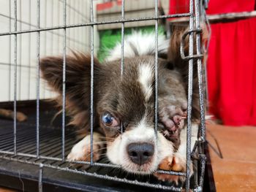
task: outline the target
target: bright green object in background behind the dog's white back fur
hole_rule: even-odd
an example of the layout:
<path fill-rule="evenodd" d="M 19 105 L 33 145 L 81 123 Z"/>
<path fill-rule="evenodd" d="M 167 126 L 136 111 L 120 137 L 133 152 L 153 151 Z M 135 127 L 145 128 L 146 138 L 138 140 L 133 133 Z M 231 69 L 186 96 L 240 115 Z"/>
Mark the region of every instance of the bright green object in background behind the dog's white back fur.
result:
<path fill-rule="evenodd" d="M 125 28 L 124 36 L 132 34 L 132 31 L 142 31 L 142 33 L 154 32 L 154 26 L 145 26 L 138 28 Z M 165 28 L 159 26 L 158 34 L 164 34 Z M 104 61 L 108 51 L 115 47 L 117 42 L 121 42 L 121 29 L 109 29 L 99 31 L 99 51 L 97 53 L 100 62 Z"/>

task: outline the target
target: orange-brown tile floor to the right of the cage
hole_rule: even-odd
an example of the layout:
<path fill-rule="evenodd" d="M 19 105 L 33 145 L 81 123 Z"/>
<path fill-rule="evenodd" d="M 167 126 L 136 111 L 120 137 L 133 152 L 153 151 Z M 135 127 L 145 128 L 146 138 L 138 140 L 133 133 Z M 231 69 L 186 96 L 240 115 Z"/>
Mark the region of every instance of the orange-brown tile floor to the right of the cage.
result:
<path fill-rule="evenodd" d="M 223 158 L 210 148 L 217 191 L 256 191 L 256 127 L 207 126 L 207 139 Z"/>

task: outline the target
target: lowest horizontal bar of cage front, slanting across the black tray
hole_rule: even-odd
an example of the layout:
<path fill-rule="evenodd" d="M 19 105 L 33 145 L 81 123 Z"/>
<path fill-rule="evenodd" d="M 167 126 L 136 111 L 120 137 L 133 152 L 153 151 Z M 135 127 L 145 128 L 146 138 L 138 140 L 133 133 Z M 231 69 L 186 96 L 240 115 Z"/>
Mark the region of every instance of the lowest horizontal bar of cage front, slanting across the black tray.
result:
<path fill-rule="evenodd" d="M 39 166 L 39 164 L 40 164 L 40 163 L 36 163 L 36 162 L 32 162 L 32 161 L 22 161 L 22 160 L 19 160 L 16 158 L 10 158 L 10 157 L 6 157 L 3 155 L 0 155 L 0 158 L 7 159 L 9 161 L 18 161 L 20 163 L 25 163 L 25 164 L 33 164 L 33 165 L 37 165 L 37 166 Z M 84 174 L 87 176 L 97 177 L 97 178 L 104 179 L 104 180 L 113 180 L 113 181 L 122 182 L 122 183 L 129 183 L 129 184 L 133 184 L 133 185 L 141 185 L 141 186 L 146 186 L 146 187 L 151 187 L 151 188 L 159 188 L 159 189 L 170 190 L 170 191 L 182 191 L 182 188 L 166 186 L 166 185 L 161 185 L 161 184 L 152 184 L 152 183 L 148 183 L 148 182 L 140 182 L 138 180 L 127 180 L 125 178 L 121 179 L 118 177 L 108 176 L 107 174 L 102 175 L 102 174 L 97 174 L 95 172 L 91 173 L 91 172 L 86 172 L 86 171 L 78 171 L 76 169 L 62 168 L 62 167 L 53 166 L 50 164 L 44 164 L 43 166 L 47 167 L 47 168 L 51 168 L 51 169 L 60 170 L 60 171 L 72 172 L 72 173 L 76 173 L 76 174 Z"/>

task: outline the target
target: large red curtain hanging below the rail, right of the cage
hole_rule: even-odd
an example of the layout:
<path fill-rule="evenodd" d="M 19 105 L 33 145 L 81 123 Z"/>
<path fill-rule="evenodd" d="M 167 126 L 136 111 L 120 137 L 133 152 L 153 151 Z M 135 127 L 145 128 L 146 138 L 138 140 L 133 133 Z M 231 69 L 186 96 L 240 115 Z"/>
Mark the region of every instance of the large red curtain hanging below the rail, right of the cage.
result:
<path fill-rule="evenodd" d="M 256 18 L 211 25 L 210 112 L 225 125 L 256 126 Z"/>

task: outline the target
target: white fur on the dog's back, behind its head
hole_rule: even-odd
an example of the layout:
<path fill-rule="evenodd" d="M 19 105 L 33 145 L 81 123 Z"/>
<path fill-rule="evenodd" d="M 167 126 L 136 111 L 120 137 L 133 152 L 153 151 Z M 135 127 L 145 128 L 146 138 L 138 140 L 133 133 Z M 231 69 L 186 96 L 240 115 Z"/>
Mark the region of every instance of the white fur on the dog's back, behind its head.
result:
<path fill-rule="evenodd" d="M 158 53 L 166 54 L 169 47 L 169 40 L 164 35 L 158 36 Z M 124 37 L 124 58 L 132 58 L 136 55 L 154 55 L 155 34 L 142 34 L 141 31 L 134 31 L 131 35 Z M 113 50 L 109 51 L 106 61 L 115 61 L 121 58 L 121 43 L 118 42 Z"/>

